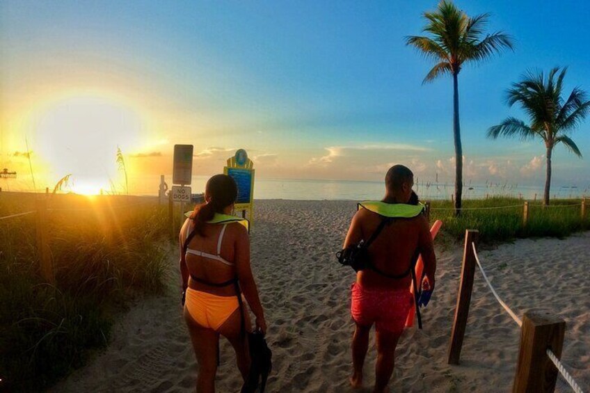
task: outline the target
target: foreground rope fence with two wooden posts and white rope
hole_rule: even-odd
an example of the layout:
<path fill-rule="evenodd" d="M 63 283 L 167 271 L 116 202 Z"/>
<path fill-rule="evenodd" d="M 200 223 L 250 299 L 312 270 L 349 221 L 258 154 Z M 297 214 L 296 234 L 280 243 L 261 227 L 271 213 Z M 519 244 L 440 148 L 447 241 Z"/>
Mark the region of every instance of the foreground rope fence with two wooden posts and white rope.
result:
<path fill-rule="evenodd" d="M 584 393 L 580 385 L 576 383 L 564 367 L 564 364 L 559 360 L 564 342 L 565 321 L 541 312 L 525 312 L 524 321 L 520 319 L 504 303 L 488 279 L 488 275 L 486 275 L 477 255 L 476 241 L 478 236 L 479 232 L 474 230 L 465 232 L 463 268 L 449 346 L 449 363 L 459 364 L 471 301 L 475 264 L 477 264 L 495 299 L 520 327 L 520 349 L 513 392 L 553 392 L 557 383 L 557 372 L 559 371 L 559 374 L 575 393 Z M 551 360 L 551 363 L 543 360 L 545 355 Z M 555 369 L 549 368 L 548 364 L 554 365 Z"/>

